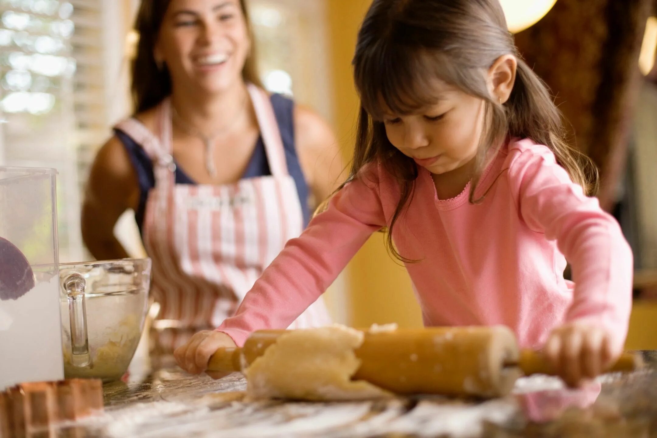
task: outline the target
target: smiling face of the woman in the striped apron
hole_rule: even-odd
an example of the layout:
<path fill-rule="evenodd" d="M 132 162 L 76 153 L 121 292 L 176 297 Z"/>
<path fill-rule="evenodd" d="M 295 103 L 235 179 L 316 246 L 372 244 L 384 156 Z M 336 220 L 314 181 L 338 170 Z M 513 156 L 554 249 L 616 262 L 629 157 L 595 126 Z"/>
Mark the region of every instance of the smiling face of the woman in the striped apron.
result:
<path fill-rule="evenodd" d="M 240 0 L 171 0 L 154 56 L 174 89 L 221 93 L 241 79 L 250 45 Z"/>

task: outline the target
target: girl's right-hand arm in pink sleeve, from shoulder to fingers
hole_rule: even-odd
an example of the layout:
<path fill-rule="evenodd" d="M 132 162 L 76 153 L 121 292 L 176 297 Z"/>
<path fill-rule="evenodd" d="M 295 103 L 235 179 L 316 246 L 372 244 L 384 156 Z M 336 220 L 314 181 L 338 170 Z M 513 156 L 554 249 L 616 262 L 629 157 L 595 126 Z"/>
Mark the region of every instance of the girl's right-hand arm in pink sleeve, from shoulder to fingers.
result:
<path fill-rule="evenodd" d="M 557 246 L 572 267 L 575 290 L 548 355 L 573 380 L 620 354 L 632 300 L 633 257 L 616 220 L 583 194 L 545 146 L 518 154 L 509 167 L 522 218 Z M 587 353 L 591 353 L 587 358 Z M 598 359 L 596 359 L 596 354 Z M 556 358 L 556 356 L 559 356 Z M 578 360 L 576 360 L 578 359 Z M 573 382 L 570 383 L 573 383 Z"/>

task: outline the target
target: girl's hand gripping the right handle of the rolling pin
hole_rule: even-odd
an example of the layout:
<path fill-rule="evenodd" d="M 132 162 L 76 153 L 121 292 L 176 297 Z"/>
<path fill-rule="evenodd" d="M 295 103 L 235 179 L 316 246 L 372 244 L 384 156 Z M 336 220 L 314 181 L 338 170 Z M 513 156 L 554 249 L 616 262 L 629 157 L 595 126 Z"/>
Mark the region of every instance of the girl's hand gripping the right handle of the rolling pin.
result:
<path fill-rule="evenodd" d="M 543 353 L 566 384 L 578 387 L 607 370 L 622 351 L 612 347 L 612 336 L 606 329 L 575 321 L 555 328 Z"/>

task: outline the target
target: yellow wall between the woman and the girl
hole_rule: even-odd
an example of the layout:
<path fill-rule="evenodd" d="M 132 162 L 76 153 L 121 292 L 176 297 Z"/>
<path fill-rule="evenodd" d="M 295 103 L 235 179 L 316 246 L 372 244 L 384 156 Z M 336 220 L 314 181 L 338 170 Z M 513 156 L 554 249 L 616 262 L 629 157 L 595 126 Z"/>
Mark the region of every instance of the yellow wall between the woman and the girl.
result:
<path fill-rule="evenodd" d="M 358 98 L 351 76 L 351 56 L 356 35 L 369 0 L 328 0 L 329 43 L 331 47 L 332 89 L 334 91 L 334 129 L 345 157 L 353 150 Z M 420 310 L 406 270 L 388 256 L 384 238 L 376 233 L 348 267 L 351 326 L 365 327 L 374 322 L 397 322 L 403 327 L 422 326 Z"/>

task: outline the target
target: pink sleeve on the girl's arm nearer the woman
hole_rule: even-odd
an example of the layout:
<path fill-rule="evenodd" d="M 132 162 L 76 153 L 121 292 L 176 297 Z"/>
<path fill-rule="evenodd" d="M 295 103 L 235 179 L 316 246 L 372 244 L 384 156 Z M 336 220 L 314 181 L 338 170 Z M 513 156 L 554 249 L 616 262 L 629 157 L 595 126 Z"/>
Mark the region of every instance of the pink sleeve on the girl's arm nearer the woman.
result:
<path fill-rule="evenodd" d="M 265 269 L 235 316 L 217 330 L 243 345 L 256 330 L 286 328 L 315 302 L 367 238 L 385 225 L 373 177 L 373 171 L 363 172 L 336 193 L 327 210 Z"/>

